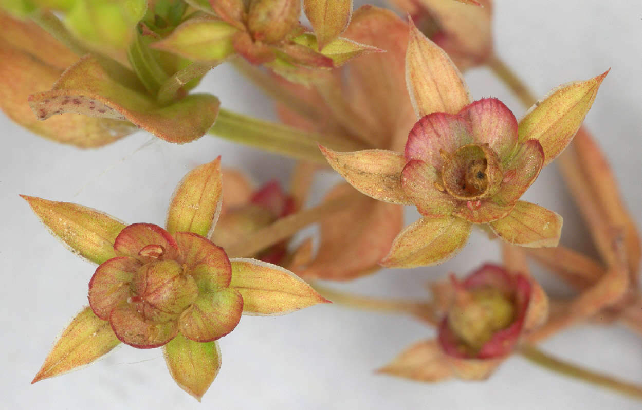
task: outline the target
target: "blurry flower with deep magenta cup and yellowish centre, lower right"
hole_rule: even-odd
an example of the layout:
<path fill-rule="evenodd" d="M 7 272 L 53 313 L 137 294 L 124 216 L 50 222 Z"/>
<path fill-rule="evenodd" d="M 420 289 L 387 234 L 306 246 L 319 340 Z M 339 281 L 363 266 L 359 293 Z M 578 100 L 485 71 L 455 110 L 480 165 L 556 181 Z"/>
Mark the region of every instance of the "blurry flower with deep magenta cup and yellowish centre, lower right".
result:
<path fill-rule="evenodd" d="M 532 278 L 494 264 L 432 288 L 444 309 L 437 339 L 410 346 L 379 372 L 429 382 L 485 379 L 548 312 L 548 300 Z"/>

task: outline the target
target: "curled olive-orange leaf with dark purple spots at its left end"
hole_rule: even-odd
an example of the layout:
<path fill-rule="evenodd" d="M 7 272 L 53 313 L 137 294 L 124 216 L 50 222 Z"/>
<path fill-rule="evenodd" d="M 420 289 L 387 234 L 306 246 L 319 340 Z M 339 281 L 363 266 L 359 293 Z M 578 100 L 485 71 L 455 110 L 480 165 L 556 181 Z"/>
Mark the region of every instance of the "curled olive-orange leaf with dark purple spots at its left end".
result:
<path fill-rule="evenodd" d="M 214 124 L 220 105 L 218 98 L 209 94 L 191 94 L 160 106 L 109 78 L 91 55 L 69 67 L 51 91 L 31 94 L 28 101 L 41 120 L 64 112 L 126 120 L 179 144 L 202 137 Z"/>

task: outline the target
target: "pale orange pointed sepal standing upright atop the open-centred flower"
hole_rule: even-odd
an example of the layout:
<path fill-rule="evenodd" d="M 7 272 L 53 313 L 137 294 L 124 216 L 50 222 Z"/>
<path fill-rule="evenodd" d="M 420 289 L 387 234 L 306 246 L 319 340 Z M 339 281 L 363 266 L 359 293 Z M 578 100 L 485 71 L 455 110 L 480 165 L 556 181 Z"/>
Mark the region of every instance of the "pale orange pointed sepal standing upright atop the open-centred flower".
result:
<path fill-rule="evenodd" d="M 470 103 L 468 89 L 453 61 L 410 21 L 406 86 L 417 118 L 432 112 L 456 114 Z"/>

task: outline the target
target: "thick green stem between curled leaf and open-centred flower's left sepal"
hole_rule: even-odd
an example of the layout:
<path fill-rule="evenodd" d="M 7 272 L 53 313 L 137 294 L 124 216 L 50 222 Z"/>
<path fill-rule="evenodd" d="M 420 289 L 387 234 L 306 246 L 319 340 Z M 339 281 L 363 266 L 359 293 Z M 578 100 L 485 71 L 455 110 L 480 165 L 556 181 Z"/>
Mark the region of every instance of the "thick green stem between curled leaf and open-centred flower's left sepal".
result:
<path fill-rule="evenodd" d="M 356 151 L 364 148 L 354 142 L 345 141 L 332 135 L 298 130 L 283 124 L 272 123 L 247 115 L 222 109 L 209 133 L 230 141 L 239 142 L 286 155 L 325 164 L 325 158 L 318 150 L 322 144 L 339 151 Z"/>

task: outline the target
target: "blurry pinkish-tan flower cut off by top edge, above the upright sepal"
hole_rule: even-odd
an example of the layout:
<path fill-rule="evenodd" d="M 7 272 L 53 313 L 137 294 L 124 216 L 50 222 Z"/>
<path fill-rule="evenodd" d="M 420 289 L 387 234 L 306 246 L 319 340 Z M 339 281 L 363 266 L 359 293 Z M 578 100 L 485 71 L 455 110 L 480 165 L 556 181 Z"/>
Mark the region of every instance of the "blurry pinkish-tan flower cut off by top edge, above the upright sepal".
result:
<path fill-rule="evenodd" d="M 492 55 L 491 0 L 388 0 L 464 71 Z"/>

